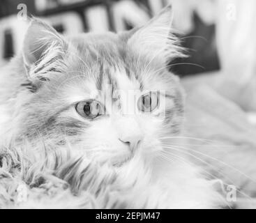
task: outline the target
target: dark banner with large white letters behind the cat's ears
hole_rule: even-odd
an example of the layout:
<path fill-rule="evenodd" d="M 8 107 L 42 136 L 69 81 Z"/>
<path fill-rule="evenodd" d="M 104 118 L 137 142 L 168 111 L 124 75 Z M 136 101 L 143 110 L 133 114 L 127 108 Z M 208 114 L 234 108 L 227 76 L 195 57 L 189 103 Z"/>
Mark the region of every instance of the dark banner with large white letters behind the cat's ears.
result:
<path fill-rule="evenodd" d="M 207 1 L 207 0 L 206 0 Z M 176 9 L 175 26 L 182 43 L 190 50 L 190 58 L 175 63 L 196 63 L 174 66 L 179 75 L 218 70 L 216 52 L 216 26 L 213 15 L 201 13 L 193 1 L 164 0 L 1 0 L 0 32 L 1 61 L 8 61 L 20 47 L 27 15 L 43 17 L 57 31 L 75 34 L 86 31 L 123 31 L 144 24 L 169 3 Z M 203 2 L 203 1 L 202 1 Z M 209 11 L 211 1 L 203 7 Z M 208 9 L 207 9 L 208 8 Z M 23 10 L 23 11 L 22 11 Z M 20 21 L 17 24 L 17 14 Z M 211 12 L 213 14 L 213 12 Z M 184 16 L 186 15 L 186 16 Z M 24 23 L 24 24 L 21 24 Z M 0 63 L 1 64 L 1 63 Z"/>

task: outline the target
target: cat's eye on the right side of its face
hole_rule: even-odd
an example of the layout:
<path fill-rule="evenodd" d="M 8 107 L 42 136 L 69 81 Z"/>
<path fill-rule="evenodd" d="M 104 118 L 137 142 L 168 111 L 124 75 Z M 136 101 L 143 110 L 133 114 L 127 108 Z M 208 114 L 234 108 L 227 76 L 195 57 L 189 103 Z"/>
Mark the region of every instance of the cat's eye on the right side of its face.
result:
<path fill-rule="evenodd" d="M 137 102 L 137 107 L 142 112 L 153 112 L 159 103 L 159 95 L 157 92 L 149 92 L 142 95 Z"/>

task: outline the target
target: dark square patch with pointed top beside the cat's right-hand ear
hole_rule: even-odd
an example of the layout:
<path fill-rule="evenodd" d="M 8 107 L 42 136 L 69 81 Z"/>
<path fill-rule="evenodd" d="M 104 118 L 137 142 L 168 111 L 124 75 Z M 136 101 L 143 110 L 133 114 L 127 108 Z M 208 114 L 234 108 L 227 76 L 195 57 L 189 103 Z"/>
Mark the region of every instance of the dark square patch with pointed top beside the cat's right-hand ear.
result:
<path fill-rule="evenodd" d="M 189 57 L 176 59 L 170 63 L 170 70 L 181 77 L 220 69 L 215 25 L 206 26 L 196 13 L 194 22 L 195 30 L 181 36 L 182 46 L 188 49 Z M 175 65 L 176 63 L 178 64 Z"/>

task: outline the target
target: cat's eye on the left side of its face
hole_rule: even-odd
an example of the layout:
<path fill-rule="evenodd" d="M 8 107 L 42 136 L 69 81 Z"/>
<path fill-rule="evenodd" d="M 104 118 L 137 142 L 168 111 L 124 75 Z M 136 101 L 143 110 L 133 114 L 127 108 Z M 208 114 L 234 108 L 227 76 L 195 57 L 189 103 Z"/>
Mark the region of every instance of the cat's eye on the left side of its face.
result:
<path fill-rule="evenodd" d="M 103 106 L 96 100 L 78 102 L 77 105 L 75 105 L 75 109 L 80 116 L 89 119 L 94 119 L 104 114 Z"/>

